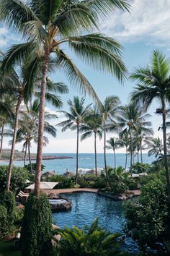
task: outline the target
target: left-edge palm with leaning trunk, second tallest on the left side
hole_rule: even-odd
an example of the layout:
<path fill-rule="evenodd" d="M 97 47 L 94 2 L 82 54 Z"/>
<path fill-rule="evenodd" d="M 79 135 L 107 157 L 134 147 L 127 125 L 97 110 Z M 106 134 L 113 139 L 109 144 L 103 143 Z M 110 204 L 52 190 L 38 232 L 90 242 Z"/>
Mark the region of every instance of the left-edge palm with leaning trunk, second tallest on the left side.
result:
<path fill-rule="evenodd" d="M 18 119 L 19 119 L 19 111 L 21 104 L 27 103 L 27 93 L 30 93 L 30 97 L 33 95 L 40 97 L 40 78 L 35 77 L 34 81 L 34 90 L 33 92 L 30 92 L 29 89 L 29 77 L 28 72 L 29 68 L 28 66 L 30 63 L 27 59 L 24 59 L 24 62 L 22 64 L 22 67 L 20 68 L 19 75 L 15 71 L 15 69 L 12 69 L 10 74 L 8 72 L 1 73 L 1 94 L 6 95 L 8 93 L 9 95 L 12 95 L 12 98 L 17 99 L 16 106 L 14 110 L 14 132 L 13 132 L 13 138 L 12 138 L 12 149 L 9 159 L 9 169 L 8 169 L 8 175 L 7 175 L 7 181 L 6 181 L 6 190 L 9 191 L 10 187 L 10 180 L 11 180 L 11 174 L 12 174 L 12 166 L 14 162 L 14 149 L 15 149 L 15 143 L 17 138 L 17 127 L 18 127 Z M 55 95 L 55 93 L 67 93 L 68 88 L 63 83 L 53 83 L 51 80 L 47 77 L 47 92 L 45 94 L 45 99 L 49 103 L 52 103 L 55 107 L 61 107 L 62 101 L 61 98 Z"/>

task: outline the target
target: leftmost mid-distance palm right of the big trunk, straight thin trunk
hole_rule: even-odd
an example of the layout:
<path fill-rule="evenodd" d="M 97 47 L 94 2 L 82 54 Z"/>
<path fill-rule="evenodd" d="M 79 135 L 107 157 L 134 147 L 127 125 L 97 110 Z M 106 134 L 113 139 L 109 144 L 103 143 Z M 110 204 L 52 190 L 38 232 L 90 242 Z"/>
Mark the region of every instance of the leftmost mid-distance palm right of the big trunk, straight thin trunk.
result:
<path fill-rule="evenodd" d="M 84 119 L 89 114 L 88 109 L 91 104 L 84 106 L 85 99 L 79 98 L 77 96 L 73 97 L 73 101 L 68 100 L 69 112 L 67 111 L 58 111 L 63 113 L 66 116 L 66 121 L 61 121 L 58 123 L 58 127 L 63 127 L 62 132 L 65 132 L 66 129 L 76 129 L 76 184 L 78 179 L 78 168 L 79 168 L 79 132 L 81 124 L 84 122 Z"/>

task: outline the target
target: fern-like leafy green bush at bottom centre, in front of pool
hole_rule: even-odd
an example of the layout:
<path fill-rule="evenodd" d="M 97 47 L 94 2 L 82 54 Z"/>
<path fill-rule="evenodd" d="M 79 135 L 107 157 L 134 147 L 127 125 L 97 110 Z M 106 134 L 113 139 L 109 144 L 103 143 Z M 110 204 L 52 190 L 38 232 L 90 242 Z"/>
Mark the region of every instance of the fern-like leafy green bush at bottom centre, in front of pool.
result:
<path fill-rule="evenodd" d="M 55 256 L 128 256 L 127 253 L 120 252 L 117 243 L 119 234 L 110 234 L 102 230 L 98 226 L 97 218 L 91 224 L 89 231 L 86 227 L 78 229 L 73 226 L 73 229 L 68 227 L 63 230 L 57 229 L 56 233 L 61 234 L 61 240 L 58 241 Z"/>

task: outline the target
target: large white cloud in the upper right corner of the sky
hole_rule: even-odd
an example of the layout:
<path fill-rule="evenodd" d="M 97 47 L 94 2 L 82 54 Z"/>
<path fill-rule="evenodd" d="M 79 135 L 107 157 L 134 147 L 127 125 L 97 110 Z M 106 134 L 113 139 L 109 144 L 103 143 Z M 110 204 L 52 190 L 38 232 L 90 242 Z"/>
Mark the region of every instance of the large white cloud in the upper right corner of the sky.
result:
<path fill-rule="evenodd" d="M 101 31 L 121 41 L 145 40 L 156 46 L 170 41 L 170 1 L 133 0 L 130 14 L 115 12 L 102 25 Z"/>

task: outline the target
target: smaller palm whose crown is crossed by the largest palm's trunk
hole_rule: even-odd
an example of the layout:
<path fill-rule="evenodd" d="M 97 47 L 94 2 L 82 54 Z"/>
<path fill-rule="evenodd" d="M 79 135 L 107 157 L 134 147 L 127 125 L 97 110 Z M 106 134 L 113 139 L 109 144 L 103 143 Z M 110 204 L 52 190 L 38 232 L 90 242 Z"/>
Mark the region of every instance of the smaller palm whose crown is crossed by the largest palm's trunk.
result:
<path fill-rule="evenodd" d="M 30 106 L 27 106 L 27 111 L 24 111 L 22 119 L 19 120 L 19 129 L 17 130 L 17 140 L 16 142 L 22 142 L 24 151 L 24 165 L 28 156 L 30 161 L 30 171 L 32 173 L 32 163 L 30 155 L 31 142 L 37 143 L 38 138 L 38 111 L 39 111 L 39 100 L 35 99 L 33 103 L 30 103 Z M 49 114 L 45 112 L 45 132 L 53 137 L 56 137 L 56 129 L 53 125 L 50 125 L 48 120 L 57 118 L 54 114 Z M 48 143 L 48 138 L 44 136 L 43 145 Z"/>

